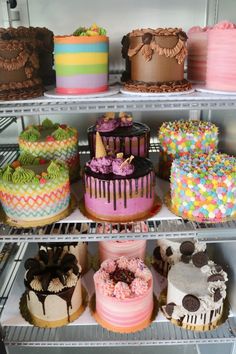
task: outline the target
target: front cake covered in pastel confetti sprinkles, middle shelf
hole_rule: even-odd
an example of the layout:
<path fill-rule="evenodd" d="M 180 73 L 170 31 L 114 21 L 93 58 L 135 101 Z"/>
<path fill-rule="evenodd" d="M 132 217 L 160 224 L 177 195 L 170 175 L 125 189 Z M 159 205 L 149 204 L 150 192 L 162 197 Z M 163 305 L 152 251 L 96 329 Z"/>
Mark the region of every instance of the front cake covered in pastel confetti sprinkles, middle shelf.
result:
<path fill-rule="evenodd" d="M 177 215 L 199 222 L 236 217 L 236 158 L 214 153 L 175 159 L 171 206 Z"/>

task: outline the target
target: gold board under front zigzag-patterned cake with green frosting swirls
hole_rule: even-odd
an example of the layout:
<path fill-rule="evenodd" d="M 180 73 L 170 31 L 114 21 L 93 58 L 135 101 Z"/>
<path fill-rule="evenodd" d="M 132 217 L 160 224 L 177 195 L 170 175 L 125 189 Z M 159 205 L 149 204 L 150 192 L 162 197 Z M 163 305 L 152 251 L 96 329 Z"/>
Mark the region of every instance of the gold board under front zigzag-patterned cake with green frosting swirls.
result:
<path fill-rule="evenodd" d="M 4 224 L 7 224 L 9 226 L 14 226 L 16 228 L 22 228 L 22 227 L 29 228 L 29 227 L 46 226 L 48 224 L 52 224 L 53 222 L 57 222 L 61 219 L 66 218 L 67 216 L 69 216 L 76 209 L 76 207 L 77 207 L 76 204 L 77 204 L 76 198 L 74 197 L 73 194 L 71 194 L 69 206 L 65 210 L 63 210 L 61 213 L 54 215 L 52 217 L 49 217 L 49 218 L 44 218 L 41 220 L 29 220 L 29 221 L 12 219 L 6 215 L 3 208 L 1 207 L 0 221 L 3 222 Z"/>

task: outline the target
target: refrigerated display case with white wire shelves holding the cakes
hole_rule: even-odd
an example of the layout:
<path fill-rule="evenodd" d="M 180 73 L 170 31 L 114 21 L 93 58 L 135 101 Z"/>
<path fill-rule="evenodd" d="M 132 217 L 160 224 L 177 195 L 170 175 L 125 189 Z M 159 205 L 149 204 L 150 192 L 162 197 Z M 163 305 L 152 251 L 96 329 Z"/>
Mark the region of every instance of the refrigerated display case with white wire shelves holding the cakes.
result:
<path fill-rule="evenodd" d="M 72 27 L 71 20 L 66 17 L 65 2 L 61 0 L 57 4 L 52 3 L 46 0 L 41 0 L 37 4 L 33 0 L 18 1 L 15 11 L 19 11 L 20 21 L 13 22 L 13 25 L 40 25 L 47 26 L 56 33 L 62 33 L 63 30 L 69 33 Z M 119 6 L 114 1 L 108 4 L 106 0 L 102 0 L 99 4 L 94 4 L 92 1 L 82 4 L 70 0 L 67 2 L 67 6 L 69 6 L 69 3 L 74 12 L 80 11 L 79 21 L 83 24 L 93 22 L 93 15 L 91 14 L 93 6 L 96 20 L 101 24 L 105 23 L 108 30 L 109 26 L 112 28 L 110 79 L 113 85 L 117 84 L 124 66 L 119 52 L 120 40 L 128 30 L 138 26 L 156 26 L 157 22 L 158 26 L 169 26 L 173 25 L 174 22 L 176 26 L 184 26 L 184 29 L 188 29 L 192 25 L 214 23 L 225 17 L 236 21 L 236 17 L 233 18 L 235 16 L 233 10 L 236 10 L 234 1 L 229 1 L 230 4 L 227 4 L 227 6 L 224 6 L 223 1 L 204 1 L 200 4 L 195 4 L 194 1 L 180 1 L 178 4 L 175 1 L 167 1 L 165 4 L 154 0 L 148 0 L 145 4 L 141 1 L 130 1 L 128 3 L 121 1 Z M 7 26 L 5 1 L 1 1 L 0 4 L 5 11 L 2 12 L 3 18 L 0 17 L 0 24 Z M 47 8 L 47 11 L 45 11 L 45 8 Z M 179 15 L 177 21 L 175 21 L 174 9 Z M 124 10 L 125 13 L 123 14 Z M 42 14 L 44 14 L 43 17 Z M 124 18 L 121 21 L 122 14 Z M 61 23 L 57 22 L 57 16 L 63 18 Z M 72 16 L 71 12 L 70 16 Z M 74 22 L 78 24 L 75 15 L 72 17 Z M 108 17 L 109 19 L 107 19 Z M 114 17 L 114 21 L 112 17 Z M 16 14 L 12 18 L 18 19 Z M 120 22 L 125 23 L 125 25 L 121 26 Z M 71 125 L 74 124 L 78 127 L 80 132 L 79 149 L 81 163 L 83 164 L 89 158 L 87 127 L 94 123 L 99 114 L 110 111 L 132 112 L 135 119 L 151 126 L 150 156 L 154 164 L 158 163 L 160 148 L 156 138 L 157 129 L 165 119 L 194 117 L 212 120 L 220 126 L 221 150 L 235 154 L 235 109 L 236 95 L 234 94 L 220 95 L 200 92 L 158 98 L 128 96 L 117 93 L 110 97 L 90 99 L 39 97 L 22 101 L 0 101 L 0 164 L 5 165 L 18 156 L 17 136 L 22 127 L 29 122 L 40 121 L 44 117 L 70 122 Z M 222 119 L 222 116 L 224 119 Z M 164 197 L 168 190 L 168 183 L 157 179 L 157 184 L 160 194 L 162 193 L 162 197 Z M 156 346 L 161 353 L 172 351 L 173 353 L 178 351 L 181 353 L 206 353 L 209 351 L 217 353 L 219 349 L 220 352 L 233 353 L 236 346 L 236 263 L 234 257 L 236 251 L 236 221 L 217 224 L 186 221 L 174 216 L 165 207 L 162 214 L 153 216 L 146 223 L 148 226 L 146 232 L 137 232 L 133 227 L 131 232 L 127 232 L 127 230 L 123 232 L 122 238 L 147 239 L 150 254 L 155 247 L 155 240 L 158 238 L 196 238 L 208 244 L 215 260 L 227 265 L 230 314 L 219 328 L 206 332 L 193 332 L 176 327 L 164 318 L 159 317 L 150 327 L 134 334 L 114 334 L 89 321 L 57 329 L 39 329 L 31 325 L 19 325 L 17 321 L 14 324 L 14 317 L 13 321 L 7 322 L 5 314 L 7 306 L 9 306 L 9 296 L 12 296 L 14 289 L 18 288 L 17 281 L 20 282 L 22 278 L 23 283 L 23 260 L 28 254 L 32 254 L 31 250 L 35 248 L 37 242 L 87 241 L 89 242 L 90 252 L 96 252 L 94 250 L 96 250 L 98 241 L 114 240 L 120 237 L 119 233 L 105 232 L 104 223 L 100 223 L 103 227 L 103 233 L 98 233 L 97 222 L 74 213 L 65 220 L 41 228 L 24 229 L 0 224 L 0 253 L 3 254 L 3 260 L 0 262 L 0 353 L 6 351 L 15 354 L 18 351 L 20 352 L 21 348 L 24 348 L 23 352 L 25 353 L 27 350 L 30 353 L 37 353 L 42 347 L 48 352 L 53 350 L 52 347 L 66 347 L 68 353 L 74 353 L 76 347 L 83 347 L 86 353 L 87 351 L 90 352 L 89 348 L 92 351 L 93 348 L 95 350 L 95 347 L 99 347 L 96 351 L 101 350 L 106 353 L 109 347 L 116 347 L 117 352 L 123 350 L 122 353 L 125 353 L 126 350 L 129 353 L 130 350 L 135 350 L 135 352 L 140 350 L 142 352 L 144 348 L 145 352 L 154 353 L 157 350 Z M 30 348 L 27 349 L 27 347 Z M 140 348 L 136 350 L 126 347 Z"/>

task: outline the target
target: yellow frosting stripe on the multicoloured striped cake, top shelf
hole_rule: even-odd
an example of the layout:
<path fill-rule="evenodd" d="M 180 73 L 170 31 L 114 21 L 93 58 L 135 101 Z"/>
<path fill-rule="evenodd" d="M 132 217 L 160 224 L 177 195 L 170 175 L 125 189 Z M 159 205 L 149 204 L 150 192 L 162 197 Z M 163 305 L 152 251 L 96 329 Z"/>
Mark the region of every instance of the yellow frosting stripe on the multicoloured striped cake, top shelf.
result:
<path fill-rule="evenodd" d="M 107 63 L 107 53 L 66 53 L 55 55 L 55 64 L 57 65 L 95 65 Z"/>

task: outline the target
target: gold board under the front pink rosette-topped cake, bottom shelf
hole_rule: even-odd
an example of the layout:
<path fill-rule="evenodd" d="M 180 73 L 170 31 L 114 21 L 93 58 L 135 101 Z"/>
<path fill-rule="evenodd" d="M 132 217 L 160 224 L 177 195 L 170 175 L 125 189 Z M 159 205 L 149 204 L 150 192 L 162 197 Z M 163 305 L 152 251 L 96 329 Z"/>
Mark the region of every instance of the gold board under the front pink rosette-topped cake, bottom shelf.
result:
<path fill-rule="evenodd" d="M 115 333 L 135 333 L 138 331 L 142 331 L 143 329 L 147 328 L 150 326 L 150 324 L 155 320 L 157 313 L 158 313 L 158 301 L 155 295 L 153 294 L 153 310 L 151 317 L 137 326 L 134 327 L 116 327 L 113 326 L 112 324 L 104 321 L 96 312 L 96 295 L 95 293 L 91 297 L 89 301 L 89 308 L 91 315 L 93 318 L 96 320 L 98 324 L 100 324 L 103 328 L 107 329 L 108 331 L 115 332 Z"/>

